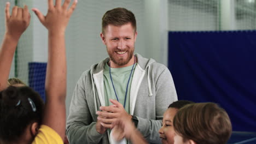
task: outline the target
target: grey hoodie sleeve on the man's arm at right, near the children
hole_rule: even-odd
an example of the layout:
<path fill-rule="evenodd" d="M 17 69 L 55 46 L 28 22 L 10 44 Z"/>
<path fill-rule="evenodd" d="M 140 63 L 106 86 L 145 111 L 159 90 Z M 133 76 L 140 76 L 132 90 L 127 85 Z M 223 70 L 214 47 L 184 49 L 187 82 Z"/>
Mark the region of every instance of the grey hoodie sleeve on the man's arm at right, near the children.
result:
<path fill-rule="evenodd" d="M 151 87 L 155 94 L 155 120 L 137 117 L 137 128 L 149 143 L 161 143 L 159 129 L 162 125 L 162 118 L 168 105 L 177 101 L 176 89 L 172 75 L 164 65 L 150 70 L 149 77 L 152 78 Z M 150 93 L 150 92 L 149 92 Z"/>

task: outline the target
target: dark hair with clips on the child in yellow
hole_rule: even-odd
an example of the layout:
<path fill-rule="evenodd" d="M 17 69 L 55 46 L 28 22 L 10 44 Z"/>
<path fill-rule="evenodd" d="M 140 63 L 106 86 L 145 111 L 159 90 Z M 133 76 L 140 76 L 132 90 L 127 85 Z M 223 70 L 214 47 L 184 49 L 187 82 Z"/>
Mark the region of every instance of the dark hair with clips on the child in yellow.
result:
<path fill-rule="evenodd" d="M 14 142 L 28 124 L 42 124 L 44 103 L 30 87 L 9 86 L 0 92 L 0 141 Z"/>

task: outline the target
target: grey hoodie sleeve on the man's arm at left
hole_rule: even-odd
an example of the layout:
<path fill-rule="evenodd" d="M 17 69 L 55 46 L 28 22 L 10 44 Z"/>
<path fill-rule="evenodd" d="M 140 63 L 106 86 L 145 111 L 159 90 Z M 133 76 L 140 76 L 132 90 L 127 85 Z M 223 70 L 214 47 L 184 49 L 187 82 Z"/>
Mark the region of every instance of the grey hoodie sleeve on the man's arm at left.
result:
<path fill-rule="evenodd" d="M 96 131 L 96 122 L 92 120 L 86 101 L 85 79 L 83 74 L 78 80 L 69 108 L 67 137 L 70 143 L 99 143 L 103 137 Z"/>

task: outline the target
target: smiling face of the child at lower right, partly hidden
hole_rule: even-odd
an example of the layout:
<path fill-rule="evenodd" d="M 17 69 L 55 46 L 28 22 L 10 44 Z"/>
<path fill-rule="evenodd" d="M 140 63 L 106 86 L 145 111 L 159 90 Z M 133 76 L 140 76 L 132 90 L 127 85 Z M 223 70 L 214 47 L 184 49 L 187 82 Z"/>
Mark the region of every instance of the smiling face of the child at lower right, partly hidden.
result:
<path fill-rule="evenodd" d="M 173 144 L 174 143 L 174 128 L 173 128 L 173 118 L 176 115 L 178 109 L 168 108 L 164 113 L 164 118 L 162 119 L 162 127 L 159 130 L 160 138 L 162 143 Z"/>

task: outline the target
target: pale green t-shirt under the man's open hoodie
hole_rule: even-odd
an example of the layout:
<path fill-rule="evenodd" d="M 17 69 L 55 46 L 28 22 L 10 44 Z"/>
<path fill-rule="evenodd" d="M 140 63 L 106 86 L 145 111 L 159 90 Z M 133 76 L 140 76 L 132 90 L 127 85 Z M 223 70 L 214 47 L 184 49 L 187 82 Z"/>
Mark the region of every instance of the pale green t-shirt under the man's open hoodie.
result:
<path fill-rule="evenodd" d="M 107 62 L 108 63 L 108 62 Z M 110 79 L 109 75 L 109 65 L 105 63 L 104 65 L 104 71 L 103 71 L 103 77 L 104 77 L 104 96 L 105 96 L 105 105 L 109 106 L 112 105 L 112 103 L 109 101 L 109 99 L 115 99 L 119 100 L 119 103 L 121 103 L 124 106 L 125 101 L 125 92 L 127 83 L 131 74 L 131 69 L 133 65 L 130 65 L 129 67 L 124 68 L 111 68 L 111 76 L 114 83 L 115 91 Z M 126 102 L 125 102 L 125 110 L 127 113 L 130 113 L 130 89 L 131 89 L 131 82 L 133 73 L 135 71 L 137 63 L 135 63 L 132 75 L 129 81 L 128 89 L 127 89 L 127 96 L 126 96 Z M 117 92 L 117 97 L 115 96 L 115 92 Z"/>

